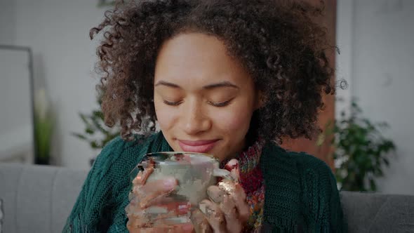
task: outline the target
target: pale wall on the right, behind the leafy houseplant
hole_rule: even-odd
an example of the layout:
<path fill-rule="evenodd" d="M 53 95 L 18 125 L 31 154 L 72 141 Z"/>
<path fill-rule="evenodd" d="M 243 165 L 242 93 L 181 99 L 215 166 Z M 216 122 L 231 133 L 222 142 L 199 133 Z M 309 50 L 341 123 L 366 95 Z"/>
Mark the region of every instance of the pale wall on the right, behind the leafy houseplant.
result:
<path fill-rule="evenodd" d="M 338 95 L 356 96 L 365 116 L 390 125 L 397 150 L 379 182 L 386 193 L 414 194 L 413 11 L 410 0 L 338 1 L 338 77 L 350 84 Z"/>

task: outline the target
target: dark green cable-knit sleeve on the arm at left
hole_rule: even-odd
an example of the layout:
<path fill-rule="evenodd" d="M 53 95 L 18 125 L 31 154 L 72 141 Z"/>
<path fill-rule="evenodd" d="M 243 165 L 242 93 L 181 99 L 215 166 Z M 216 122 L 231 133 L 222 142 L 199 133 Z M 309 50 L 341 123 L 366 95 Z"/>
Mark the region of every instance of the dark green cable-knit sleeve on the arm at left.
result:
<path fill-rule="evenodd" d="M 107 232 L 110 221 L 112 163 L 123 150 L 123 140 L 115 138 L 98 155 L 62 232 Z"/>

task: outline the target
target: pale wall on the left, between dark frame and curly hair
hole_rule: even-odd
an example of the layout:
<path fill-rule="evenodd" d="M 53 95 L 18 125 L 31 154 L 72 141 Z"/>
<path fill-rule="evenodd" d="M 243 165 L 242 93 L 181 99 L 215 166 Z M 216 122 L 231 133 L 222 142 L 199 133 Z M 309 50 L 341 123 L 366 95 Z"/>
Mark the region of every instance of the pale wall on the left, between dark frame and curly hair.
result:
<path fill-rule="evenodd" d="M 103 19 L 105 8 L 97 7 L 98 0 L 0 3 L 0 44 L 32 47 L 36 86 L 46 86 L 58 116 L 53 164 L 88 168 L 95 152 L 71 133 L 84 130 L 78 112 L 96 106 L 96 42 L 88 34 Z"/>

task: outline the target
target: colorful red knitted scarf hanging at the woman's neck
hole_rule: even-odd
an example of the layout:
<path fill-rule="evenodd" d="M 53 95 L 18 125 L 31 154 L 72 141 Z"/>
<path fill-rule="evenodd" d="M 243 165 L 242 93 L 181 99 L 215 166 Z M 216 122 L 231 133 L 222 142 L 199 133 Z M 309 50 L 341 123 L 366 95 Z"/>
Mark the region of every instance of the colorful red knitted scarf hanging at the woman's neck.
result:
<path fill-rule="evenodd" d="M 239 154 L 240 184 L 246 192 L 247 203 L 250 208 L 250 217 L 243 232 L 260 232 L 263 218 L 263 205 L 265 204 L 265 183 L 259 166 L 260 154 L 264 142 L 255 142 L 245 152 Z M 222 161 L 224 167 L 229 159 Z"/>

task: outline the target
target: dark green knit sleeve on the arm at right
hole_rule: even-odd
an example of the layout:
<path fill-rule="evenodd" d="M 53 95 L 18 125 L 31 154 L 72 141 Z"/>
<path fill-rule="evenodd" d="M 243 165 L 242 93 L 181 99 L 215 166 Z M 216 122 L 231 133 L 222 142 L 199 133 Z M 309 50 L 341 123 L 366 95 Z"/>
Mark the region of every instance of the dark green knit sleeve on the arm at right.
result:
<path fill-rule="evenodd" d="M 302 154 L 305 232 L 347 232 L 335 177 L 325 162 Z"/>

